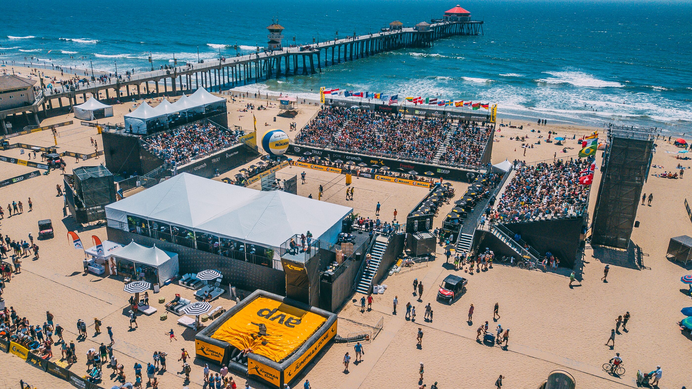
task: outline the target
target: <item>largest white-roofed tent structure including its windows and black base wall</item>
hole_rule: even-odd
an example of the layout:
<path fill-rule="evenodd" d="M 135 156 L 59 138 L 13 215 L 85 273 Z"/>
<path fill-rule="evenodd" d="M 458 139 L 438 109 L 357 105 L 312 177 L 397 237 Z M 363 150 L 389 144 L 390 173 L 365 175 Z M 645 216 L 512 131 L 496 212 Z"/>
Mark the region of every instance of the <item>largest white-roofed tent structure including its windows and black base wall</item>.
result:
<path fill-rule="evenodd" d="M 353 208 L 182 173 L 106 207 L 107 234 L 179 254 L 180 271 L 217 269 L 242 289 L 281 295 L 282 260 L 305 264 L 333 246 Z M 311 233 L 307 251 L 295 249 Z M 293 244 L 291 244 L 293 242 Z M 317 272 L 316 272 L 317 273 Z"/>

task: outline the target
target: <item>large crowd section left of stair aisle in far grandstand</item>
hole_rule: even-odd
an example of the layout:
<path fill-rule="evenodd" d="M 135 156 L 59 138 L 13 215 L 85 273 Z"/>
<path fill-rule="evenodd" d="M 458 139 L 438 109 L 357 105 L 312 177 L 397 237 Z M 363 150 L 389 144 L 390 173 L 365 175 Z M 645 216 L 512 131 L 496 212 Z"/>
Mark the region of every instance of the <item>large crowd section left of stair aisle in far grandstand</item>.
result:
<path fill-rule="evenodd" d="M 295 141 L 336 149 L 431 162 L 453 123 L 397 118 L 392 114 L 325 107 Z"/>

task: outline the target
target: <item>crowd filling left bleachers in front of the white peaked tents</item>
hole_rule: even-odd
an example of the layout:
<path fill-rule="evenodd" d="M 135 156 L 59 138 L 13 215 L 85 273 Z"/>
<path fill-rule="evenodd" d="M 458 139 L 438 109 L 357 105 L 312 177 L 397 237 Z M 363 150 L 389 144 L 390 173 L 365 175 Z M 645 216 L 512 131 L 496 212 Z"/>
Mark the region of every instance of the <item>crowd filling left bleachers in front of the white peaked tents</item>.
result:
<path fill-rule="evenodd" d="M 166 163 L 181 165 L 237 143 L 238 135 L 211 123 L 193 123 L 147 136 L 150 152 Z"/>

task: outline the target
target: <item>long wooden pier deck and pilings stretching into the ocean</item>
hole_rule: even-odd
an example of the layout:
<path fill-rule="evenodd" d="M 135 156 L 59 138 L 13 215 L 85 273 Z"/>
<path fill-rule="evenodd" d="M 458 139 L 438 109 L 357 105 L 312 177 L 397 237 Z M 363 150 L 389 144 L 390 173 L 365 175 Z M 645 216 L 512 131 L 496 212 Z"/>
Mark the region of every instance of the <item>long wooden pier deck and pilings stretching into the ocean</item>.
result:
<path fill-rule="evenodd" d="M 153 92 L 156 92 L 156 96 L 161 96 L 162 93 L 175 96 L 179 93 L 191 93 L 199 87 L 209 91 L 221 91 L 271 78 L 310 75 L 321 72 L 322 66 L 357 60 L 385 51 L 430 47 L 437 39 L 455 35 L 478 35 L 482 33 L 482 25 L 483 21 L 437 19 L 429 25 L 421 23 L 413 28 L 337 38 L 308 46 L 282 48 L 241 57 L 207 60 L 202 64 L 134 73 L 129 78 L 125 78 L 121 73 L 121 78 L 113 77 L 114 82 L 107 84 L 91 84 L 79 89 L 75 87 L 55 89 L 53 93 L 48 93 L 46 90 L 40 104 L 45 111 L 46 105 L 51 109 L 54 108 L 53 100 L 57 99 L 58 105 L 63 107 L 62 98 L 68 98 L 69 105 L 73 106 L 77 104 L 77 96 L 82 96 L 83 101 L 86 101 L 87 93 L 98 97 L 100 91 L 105 91 L 107 99 L 116 98 L 116 96 L 117 98 L 126 96 L 141 98 L 143 93 L 151 96 Z M 151 82 L 154 82 L 155 89 L 150 88 Z M 163 84 L 163 91 L 159 89 L 160 84 Z M 111 96 L 110 90 L 118 91 L 118 93 L 116 96 Z"/>

